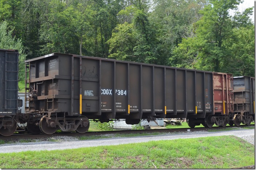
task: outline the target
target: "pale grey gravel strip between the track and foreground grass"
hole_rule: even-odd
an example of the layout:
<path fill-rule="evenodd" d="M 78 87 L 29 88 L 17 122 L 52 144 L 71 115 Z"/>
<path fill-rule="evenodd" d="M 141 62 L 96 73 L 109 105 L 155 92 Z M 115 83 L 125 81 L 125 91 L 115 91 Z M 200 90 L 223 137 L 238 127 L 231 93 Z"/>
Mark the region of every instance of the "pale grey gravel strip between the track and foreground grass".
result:
<path fill-rule="evenodd" d="M 198 138 L 198 137 L 211 137 L 211 136 L 222 136 L 222 135 L 234 135 L 245 139 L 246 141 L 255 145 L 255 129 L 239 129 L 230 131 L 193 131 L 183 133 L 167 133 L 162 135 L 149 135 L 149 136 L 137 136 L 137 137 L 113 137 L 113 138 L 102 138 L 92 140 L 78 140 L 75 137 L 68 136 L 57 136 L 49 138 L 56 142 L 39 141 L 39 142 L 28 142 L 28 143 L 10 143 L 0 145 L 0 153 L 12 153 L 21 151 L 39 151 L 39 150 L 63 150 L 63 149 L 75 149 L 80 147 L 93 147 L 93 146 L 106 146 L 106 145 L 120 145 L 127 143 L 140 143 L 157 140 L 172 140 L 172 139 L 185 139 L 185 138 Z"/>

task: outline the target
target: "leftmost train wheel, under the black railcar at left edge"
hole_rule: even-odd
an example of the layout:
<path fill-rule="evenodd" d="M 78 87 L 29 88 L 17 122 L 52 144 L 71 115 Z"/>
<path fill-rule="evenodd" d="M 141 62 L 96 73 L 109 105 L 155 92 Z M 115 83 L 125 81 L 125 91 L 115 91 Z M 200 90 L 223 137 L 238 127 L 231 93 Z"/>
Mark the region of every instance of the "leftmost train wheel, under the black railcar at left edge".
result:
<path fill-rule="evenodd" d="M 2 122 L 2 120 L 0 120 Z M 4 124 L 0 129 L 0 134 L 3 136 L 11 136 L 17 129 L 16 120 L 12 120 L 11 117 L 4 118 Z"/>

